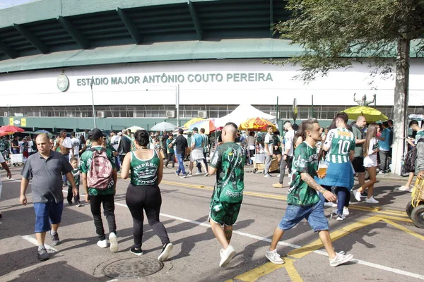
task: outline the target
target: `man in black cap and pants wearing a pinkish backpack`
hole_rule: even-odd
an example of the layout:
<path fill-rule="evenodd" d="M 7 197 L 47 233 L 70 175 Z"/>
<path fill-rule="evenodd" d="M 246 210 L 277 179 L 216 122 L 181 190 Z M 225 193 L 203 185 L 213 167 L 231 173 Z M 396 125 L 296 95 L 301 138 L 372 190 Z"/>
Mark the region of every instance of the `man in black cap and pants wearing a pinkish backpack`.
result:
<path fill-rule="evenodd" d="M 117 224 L 114 216 L 114 195 L 117 186 L 117 168 L 111 149 L 102 147 L 103 134 L 98 128 L 90 130 L 91 148 L 81 155 L 80 171 L 86 189 L 86 202 L 90 202 L 99 247 L 107 247 L 101 206 L 109 226 L 110 251 L 118 251 Z"/>

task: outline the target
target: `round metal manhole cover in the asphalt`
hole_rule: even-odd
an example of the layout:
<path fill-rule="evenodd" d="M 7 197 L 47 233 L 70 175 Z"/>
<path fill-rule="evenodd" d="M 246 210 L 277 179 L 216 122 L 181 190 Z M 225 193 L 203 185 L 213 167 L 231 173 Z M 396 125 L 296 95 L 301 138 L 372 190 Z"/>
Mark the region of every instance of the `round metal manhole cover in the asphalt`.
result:
<path fill-rule="evenodd" d="M 155 274 L 163 268 L 158 259 L 120 259 L 103 268 L 103 274 L 110 278 L 131 279 Z"/>

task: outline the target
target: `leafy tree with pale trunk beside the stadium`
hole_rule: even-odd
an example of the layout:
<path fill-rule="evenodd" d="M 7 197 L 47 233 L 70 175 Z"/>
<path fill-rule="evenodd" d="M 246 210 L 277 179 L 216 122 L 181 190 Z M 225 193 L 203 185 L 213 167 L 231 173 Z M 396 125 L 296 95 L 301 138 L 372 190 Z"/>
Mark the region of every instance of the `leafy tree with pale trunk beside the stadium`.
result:
<path fill-rule="evenodd" d="M 394 171 L 400 172 L 408 109 L 411 54 L 424 53 L 424 0 L 288 0 L 292 17 L 274 25 L 281 39 L 305 51 L 276 64 L 300 66 L 300 78 L 314 80 L 353 61 L 387 75 L 396 66 Z"/>

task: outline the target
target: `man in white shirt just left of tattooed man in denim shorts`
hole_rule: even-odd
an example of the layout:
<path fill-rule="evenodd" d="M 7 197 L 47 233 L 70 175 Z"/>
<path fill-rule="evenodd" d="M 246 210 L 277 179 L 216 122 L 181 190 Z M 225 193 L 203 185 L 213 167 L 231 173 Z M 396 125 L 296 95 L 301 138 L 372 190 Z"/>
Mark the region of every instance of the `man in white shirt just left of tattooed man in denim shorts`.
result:
<path fill-rule="evenodd" d="M 295 130 L 293 129 L 290 121 L 286 121 L 283 124 L 283 128 L 285 130 L 284 135 L 284 152 L 283 157 L 280 162 L 280 178 L 278 179 L 278 183 L 273 184 L 275 188 L 283 188 L 285 168 L 288 168 L 288 178 L 289 183 L 291 183 L 291 173 L 292 173 L 292 162 L 293 162 L 293 138 L 295 137 Z"/>

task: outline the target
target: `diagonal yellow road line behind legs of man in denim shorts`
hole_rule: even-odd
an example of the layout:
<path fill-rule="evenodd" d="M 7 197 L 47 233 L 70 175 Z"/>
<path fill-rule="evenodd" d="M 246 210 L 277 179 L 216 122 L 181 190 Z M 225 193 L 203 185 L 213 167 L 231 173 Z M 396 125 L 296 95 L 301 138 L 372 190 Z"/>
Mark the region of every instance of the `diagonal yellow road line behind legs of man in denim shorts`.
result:
<path fill-rule="evenodd" d="M 360 228 L 369 226 L 370 224 L 376 223 L 377 221 L 380 221 L 380 220 L 382 219 L 379 216 L 371 216 L 367 219 L 363 219 L 361 221 L 352 223 L 348 226 L 341 228 L 340 230 L 331 232 L 330 233 L 331 241 L 334 242 L 335 240 L 338 240 L 348 234 L 351 234 L 353 231 L 357 231 Z M 322 247 L 323 247 L 322 242 L 321 240 L 318 239 L 308 245 L 305 245 L 303 247 L 300 247 L 299 249 L 289 252 L 287 255 L 290 257 L 295 257 L 296 259 L 300 259 L 302 257 L 305 257 L 305 255 L 309 255 L 311 252 L 314 252 Z"/>

